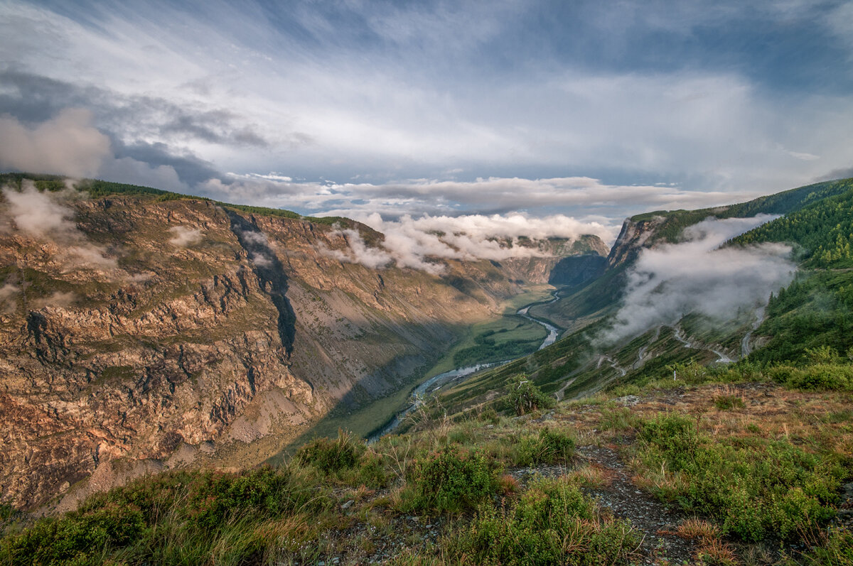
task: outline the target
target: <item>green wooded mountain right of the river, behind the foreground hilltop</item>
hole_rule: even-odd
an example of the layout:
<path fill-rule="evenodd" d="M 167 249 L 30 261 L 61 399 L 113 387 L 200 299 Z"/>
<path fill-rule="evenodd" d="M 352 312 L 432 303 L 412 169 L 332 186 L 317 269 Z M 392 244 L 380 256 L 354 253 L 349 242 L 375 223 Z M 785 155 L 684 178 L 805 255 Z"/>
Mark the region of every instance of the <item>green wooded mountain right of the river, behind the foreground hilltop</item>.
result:
<path fill-rule="evenodd" d="M 685 238 L 685 228 L 708 218 L 772 215 L 723 247 L 792 247 L 798 272 L 775 292 L 766 309 L 731 313 L 720 321 L 686 312 L 620 338 L 602 339 L 624 305 L 629 278 L 644 251 L 659 251 Z M 556 303 L 531 314 L 569 329 L 555 344 L 505 366 L 479 373 L 442 390 L 450 413 L 488 406 L 519 373 L 560 399 L 587 396 L 618 384 L 642 383 L 670 374 L 679 364 L 719 362 L 793 363 L 807 351 L 829 348 L 845 355 L 853 347 L 853 180 L 821 182 L 737 205 L 698 211 L 655 211 L 627 218 L 601 276 L 566 287 Z M 575 258 L 570 258 L 570 261 Z M 701 260 L 699 260 L 701 261 Z M 699 291 L 699 296 L 701 292 Z M 728 289 L 736 294 L 735 288 Z"/>

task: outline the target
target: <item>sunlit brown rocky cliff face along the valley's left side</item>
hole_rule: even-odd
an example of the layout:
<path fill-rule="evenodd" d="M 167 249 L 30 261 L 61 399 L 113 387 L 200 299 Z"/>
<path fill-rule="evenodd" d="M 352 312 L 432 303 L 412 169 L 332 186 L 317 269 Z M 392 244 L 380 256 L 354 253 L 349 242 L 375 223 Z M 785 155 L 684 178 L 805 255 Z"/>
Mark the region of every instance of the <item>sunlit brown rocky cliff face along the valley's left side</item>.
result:
<path fill-rule="evenodd" d="M 398 390 L 555 261 L 368 269 L 319 223 L 63 198 L 41 226 L 0 202 L 0 499 L 23 507 Z"/>

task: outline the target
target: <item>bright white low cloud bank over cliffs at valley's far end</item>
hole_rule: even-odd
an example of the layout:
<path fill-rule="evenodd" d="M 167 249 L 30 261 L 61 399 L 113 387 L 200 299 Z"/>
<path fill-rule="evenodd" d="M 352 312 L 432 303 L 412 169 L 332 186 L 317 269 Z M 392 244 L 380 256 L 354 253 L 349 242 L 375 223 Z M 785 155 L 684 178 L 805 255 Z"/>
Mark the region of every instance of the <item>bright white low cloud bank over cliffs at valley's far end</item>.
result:
<path fill-rule="evenodd" d="M 602 240 L 611 240 L 613 236 L 612 227 L 599 222 L 580 222 L 563 215 L 544 218 L 518 213 L 460 217 L 424 215 L 386 221 L 374 213 L 357 219 L 385 234 L 381 245 L 367 245 L 357 230 L 339 230 L 348 249 L 323 250 L 327 255 L 371 269 L 394 264 L 432 274 L 444 270 L 435 259 L 503 261 L 513 257 L 548 257 L 552 255 L 544 241 L 548 238 L 577 240 L 584 234 L 594 234 Z"/>

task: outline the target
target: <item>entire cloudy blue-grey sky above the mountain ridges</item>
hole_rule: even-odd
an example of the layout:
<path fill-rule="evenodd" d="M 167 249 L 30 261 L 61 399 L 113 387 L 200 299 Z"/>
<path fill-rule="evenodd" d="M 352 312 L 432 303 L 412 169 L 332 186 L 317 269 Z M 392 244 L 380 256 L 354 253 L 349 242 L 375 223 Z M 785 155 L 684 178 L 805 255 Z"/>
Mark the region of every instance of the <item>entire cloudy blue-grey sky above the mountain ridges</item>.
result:
<path fill-rule="evenodd" d="M 853 175 L 850 2 L 0 0 L 0 38 L 2 170 L 611 233 Z"/>

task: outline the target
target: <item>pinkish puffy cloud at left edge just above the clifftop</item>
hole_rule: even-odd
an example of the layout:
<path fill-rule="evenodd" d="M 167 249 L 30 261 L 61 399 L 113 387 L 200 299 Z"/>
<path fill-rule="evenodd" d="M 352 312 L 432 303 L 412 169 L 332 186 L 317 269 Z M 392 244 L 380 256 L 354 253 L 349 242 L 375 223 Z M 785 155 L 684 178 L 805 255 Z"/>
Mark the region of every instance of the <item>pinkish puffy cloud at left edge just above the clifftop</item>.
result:
<path fill-rule="evenodd" d="M 109 138 L 92 126 L 92 113 L 67 108 L 32 130 L 0 116 L 0 167 L 37 173 L 91 176 L 110 157 Z"/>

